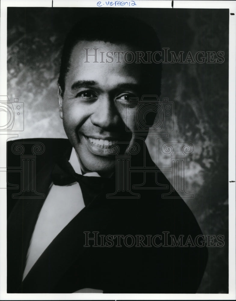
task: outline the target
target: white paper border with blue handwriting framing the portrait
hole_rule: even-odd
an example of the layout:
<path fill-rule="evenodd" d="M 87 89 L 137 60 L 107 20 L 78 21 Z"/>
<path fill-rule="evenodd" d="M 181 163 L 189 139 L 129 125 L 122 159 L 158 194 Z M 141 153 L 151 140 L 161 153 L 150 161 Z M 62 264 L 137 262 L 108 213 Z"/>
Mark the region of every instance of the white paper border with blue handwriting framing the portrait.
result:
<path fill-rule="evenodd" d="M 53 7 L 97 7 L 97 0 L 54 0 Z M 171 8 L 172 1 L 136 0 L 135 8 Z M 51 0 L 22 1 L 2 0 L 0 29 L 0 95 L 7 95 L 7 7 L 51 7 Z M 125 7 L 123 7 L 125 8 Z M 229 13 L 229 181 L 235 178 L 235 83 L 236 83 L 236 1 L 174 1 L 175 8 L 228 8 Z M 102 8 L 100 8 L 102 9 Z M 115 9 L 115 7 L 114 7 Z M 0 133 L 1 134 L 1 133 Z M 5 139 L 0 135 L 0 166 L 6 166 Z M 6 182 L 6 176 L 1 172 L 0 187 Z M 228 294 L 7 294 L 6 293 L 6 189 L 0 189 L 0 300 L 227 300 L 236 299 L 236 270 L 235 270 L 235 183 L 229 183 L 229 293 Z"/>

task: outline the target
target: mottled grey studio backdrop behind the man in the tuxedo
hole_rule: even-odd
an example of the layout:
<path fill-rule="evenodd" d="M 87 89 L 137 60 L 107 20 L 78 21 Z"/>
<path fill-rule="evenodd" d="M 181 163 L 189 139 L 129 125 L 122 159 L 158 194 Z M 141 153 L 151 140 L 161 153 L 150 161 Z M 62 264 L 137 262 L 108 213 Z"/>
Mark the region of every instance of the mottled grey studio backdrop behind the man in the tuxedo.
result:
<path fill-rule="evenodd" d="M 57 105 L 57 78 L 63 40 L 90 12 L 107 8 L 8 8 L 8 96 L 24 102 L 19 138 L 66 138 Z M 112 8 L 114 9 L 114 8 Z M 209 250 L 199 293 L 228 292 L 228 10 L 124 9 L 152 25 L 162 48 L 224 51 L 223 64 L 163 64 L 163 97 L 174 102 L 174 132 L 147 144 L 159 167 L 170 166 L 164 142 L 191 142 L 186 156 L 185 201 L 203 234 L 225 235 L 225 246 Z M 86 26 L 86 24 L 84 24 Z M 107 24 L 109 26 L 109 24 Z M 106 28 L 104 28 L 106 30 Z M 157 156 L 156 156 L 157 155 Z M 170 175 L 167 173 L 167 177 Z"/>

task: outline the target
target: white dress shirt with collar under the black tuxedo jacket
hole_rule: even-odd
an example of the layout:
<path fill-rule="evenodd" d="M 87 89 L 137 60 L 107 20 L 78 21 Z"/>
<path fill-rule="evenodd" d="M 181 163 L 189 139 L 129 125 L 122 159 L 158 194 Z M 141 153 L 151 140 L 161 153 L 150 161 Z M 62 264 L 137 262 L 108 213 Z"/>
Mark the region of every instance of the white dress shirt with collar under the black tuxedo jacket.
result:
<path fill-rule="evenodd" d="M 70 164 L 75 172 L 82 174 L 75 149 L 72 149 Z M 84 176 L 100 176 L 90 172 Z M 38 215 L 26 258 L 23 280 L 54 238 L 85 207 L 78 182 L 66 186 L 51 185 L 48 196 Z"/>

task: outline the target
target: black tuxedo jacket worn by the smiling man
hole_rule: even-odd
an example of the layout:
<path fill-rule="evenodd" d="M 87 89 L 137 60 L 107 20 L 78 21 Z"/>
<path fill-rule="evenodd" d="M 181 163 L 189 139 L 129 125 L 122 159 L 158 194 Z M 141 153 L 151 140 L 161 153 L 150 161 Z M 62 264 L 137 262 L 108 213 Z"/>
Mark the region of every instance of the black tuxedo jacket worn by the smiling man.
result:
<path fill-rule="evenodd" d="M 84 247 L 84 231 L 90 232 L 89 237 L 95 231 L 105 236 L 149 235 L 151 239 L 156 234 L 164 236 L 163 232 L 175 235 L 176 239 L 179 235 L 185 239 L 191 235 L 194 240 L 201 235 L 185 202 L 180 198 L 162 199 L 161 194 L 167 193 L 164 189 L 134 190 L 140 194 L 139 199 L 107 199 L 107 192 L 114 192 L 114 187 L 107 187 L 57 235 L 22 282 L 30 239 L 52 182 L 51 172 L 60 156 L 69 158 L 72 146 L 67 139 L 18 140 L 25 149 L 41 142 L 45 150 L 35 160 L 35 188 L 44 196 L 31 198 L 30 192 L 25 191 L 17 199 L 14 194 L 24 184 L 21 173 L 14 172 L 15 167 L 23 164 L 20 155 L 12 153 L 15 142 L 8 142 L 7 156 L 8 293 L 72 293 L 87 287 L 104 293 L 196 292 L 207 262 L 206 247 L 127 247 L 123 241 L 121 247 L 117 244 Z M 148 164 L 154 166 L 149 154 L 146 155 Z M 131 185 L 142 183 L 143 177 L 142 172 L 134 173 Z M 146 182 L 152 181 L 150 173 Z M 158 172 L 158 182 L 170 187 L 161 172 Z M 160 239 L 157 237 L 155 242 L 159 244 Z M 130 244 L 128 239 L 127 244 Z"/>

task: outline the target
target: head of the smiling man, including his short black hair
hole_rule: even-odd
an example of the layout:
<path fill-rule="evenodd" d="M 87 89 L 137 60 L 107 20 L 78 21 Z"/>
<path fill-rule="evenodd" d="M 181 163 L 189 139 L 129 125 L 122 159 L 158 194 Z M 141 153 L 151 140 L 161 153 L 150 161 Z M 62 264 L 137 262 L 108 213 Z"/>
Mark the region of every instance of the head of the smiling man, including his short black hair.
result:
<path fill-rule="evenodd" d="M 136 112 L 127 111 L 127 102 L 160 94 L 161 64 L 137 63 L 133 55 L 138 49 L 147 59 L 148 51 L 161 47 L 150 26 L 130 17 L 98 15 L 91 24 L 83 23 L 71 30 L 63 49 L 60 116 L 84 172 L 109 174 L 115 159 L 108 145 L 126 142 L 119 143 L 125 152 L 135 142 Z M 147 121 L 152 124 L 155 115 L 150 115 Z"/>

